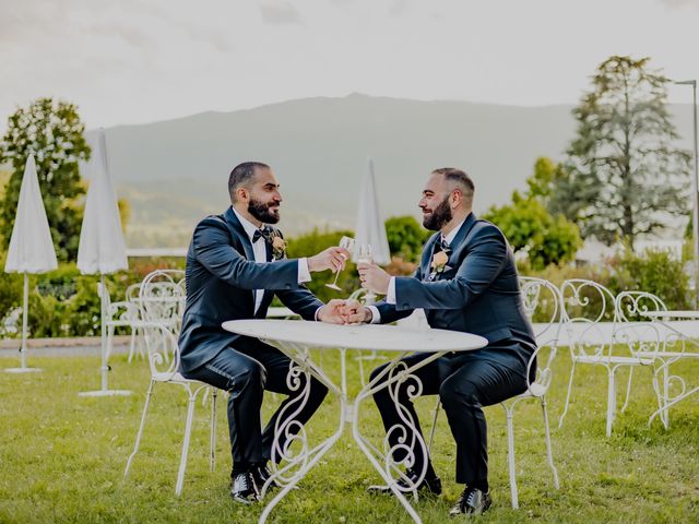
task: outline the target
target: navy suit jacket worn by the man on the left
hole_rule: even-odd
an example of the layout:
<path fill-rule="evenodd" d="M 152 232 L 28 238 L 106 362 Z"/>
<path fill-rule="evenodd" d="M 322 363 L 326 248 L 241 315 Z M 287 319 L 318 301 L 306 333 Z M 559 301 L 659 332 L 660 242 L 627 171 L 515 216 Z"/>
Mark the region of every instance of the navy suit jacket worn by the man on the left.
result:
<path fill-rule="evenodd" d="M 268 261 L 272 260 L 268 245 Z M 284 306 L 313 320 L 323 302 L 298 284 L 298 262 L 256 263 L 252 245 L 230 207 L 208 216 L 194 229 L 187 253 L 187 306 L 179 336 L 180 370 L 203 366 L 241 335 L 225 331 L 226 320 L 263 319 L 276 295 Z M 254 313 L 253 289 L 264 289 Z"/>

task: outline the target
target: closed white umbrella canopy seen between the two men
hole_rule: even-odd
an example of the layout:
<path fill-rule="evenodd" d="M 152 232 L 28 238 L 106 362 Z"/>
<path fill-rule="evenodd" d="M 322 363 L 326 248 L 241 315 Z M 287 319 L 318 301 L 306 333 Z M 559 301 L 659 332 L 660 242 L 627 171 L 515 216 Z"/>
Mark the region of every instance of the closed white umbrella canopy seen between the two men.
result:
<path fill-rule="evenodd" d="M 359 210 L 357 212 L 357 227 L 355 229 L 355 247 L 371 246 L 371 257 L 379 265 L 391 261 L 391 251 L 386 238 L 386 226 L 379 213 L 379 202 L 376 194 L 374 177 L 374 160 L 369 158 L 369 170 L 362 181 L 359 191 Z M 357 261 L 355 250 L 353 260 Z"/>

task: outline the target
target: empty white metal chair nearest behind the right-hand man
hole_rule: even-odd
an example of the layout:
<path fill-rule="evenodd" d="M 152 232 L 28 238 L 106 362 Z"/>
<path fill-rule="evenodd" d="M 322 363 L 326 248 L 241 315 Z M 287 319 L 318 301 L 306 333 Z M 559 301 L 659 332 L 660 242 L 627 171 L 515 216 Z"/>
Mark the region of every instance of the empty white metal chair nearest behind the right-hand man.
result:
<path fill-rule="evenodd" d="M 641 361 L 633 353 L 618 355 L 614 353 L 615 343 L 627 343 L 632 349 L 633 343 L 625 341 L 624 336 L 617 341 L 618 314 L 616 297 L 603 285 L 583 278 L 565 281 L 560 286 L 564 311 L 564 330 L 570 346 L 572 366 L 566 394 L 566 405 L 560 415 L 558 427 L 562 426 L 568 413 L 572 381 L 577 365 L 602 366 L 607 371 L 607 415 L 606 436 L 612 436 L 612 426 L 616 418 L 616 373 L 620 368 L 629 368 L 629 381 L 626 389 L 626 400 L 621 412 L 626 410 L 631 392 L 632 369 L 648 362 Z M 619 332 L 621 335 L 628 330 Z M 629 345 L 630 344 L 630 345 Z"/>

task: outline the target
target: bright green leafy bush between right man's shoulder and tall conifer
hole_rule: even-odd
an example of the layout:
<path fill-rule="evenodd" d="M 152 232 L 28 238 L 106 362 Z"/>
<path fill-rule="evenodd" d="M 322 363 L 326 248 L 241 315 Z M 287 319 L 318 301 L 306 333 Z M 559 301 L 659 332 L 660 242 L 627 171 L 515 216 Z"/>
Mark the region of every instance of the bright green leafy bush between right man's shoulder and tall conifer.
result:
<path fill-rule="evenodd" d="M 514 191 L 512 204 L 491 206 L 483 215 L 502 230 L 514 251 L 526 253 L 535 270 L 573 260 L 582 245 L 578 226 L 562 215 L 552 215 L 545 207 L 560 170 L 549 158 L 538 158 L 534 174 L 526 179 L 528 194 Z"/>

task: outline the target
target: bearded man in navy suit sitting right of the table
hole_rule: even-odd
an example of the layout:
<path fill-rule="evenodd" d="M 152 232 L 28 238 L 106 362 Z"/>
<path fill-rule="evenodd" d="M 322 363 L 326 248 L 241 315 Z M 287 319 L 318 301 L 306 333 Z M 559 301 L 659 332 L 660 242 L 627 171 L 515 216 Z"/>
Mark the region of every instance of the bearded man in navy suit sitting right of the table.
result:
<path fill-rule="evenodd" d="M 418 205 L 423 225 L 438 233 L 426 242 L 415 274 L 391 277 L 375 264 L 359 264 L 363 287 L 387 298 L 370 308 L 357 302 L 346 305 L 350 322 L 393 322 L 415 308 L 424 308 L 431 327 L 487 338 L 488 345 L 483 349 L 449 354 L 414 373 L 423 383 L 423 395 L 439 394 L 457 442 L 457 483 L 466 486 L 450 511 L 452 515 L 478 514 L 490 507 L 482 407 L 526 390 L 526 366 L 536 348 L 522 308 L 512 251 L 496 226 L 472 213 L 473 192 L 473 181 L 464 171 L 454 168 L 433 171 Z M 406 360 L 412 364 L 423 358 L 424 355 L 415 355 Z M 374 370 L 371 379 L 378 379 L 383 368 Z M 401 389 L 399 402 L 419 430 L 405 390 Z M 394 425 L 405 426 L 405 415 L 399 414 L 387 389 L 375 393 L 374 398 L 387 431 Z M 401 434 L 396 430 L 390 432 L 391 445 L 399 443 Z M 417 443 L 412 452 L 414 463 L 405 473 L 407 478 L 415 483 L 425 471 L 417 489 L 441 493 L 441 481 L 429 456 L 423 456 Z M 396 462 L 406 456 L 400 446 L 393 454 Z M 398 480 L 398 485 L 407 489 L 403 480 Z M 370 489 L 391 492 L 387 486 Z"/>

